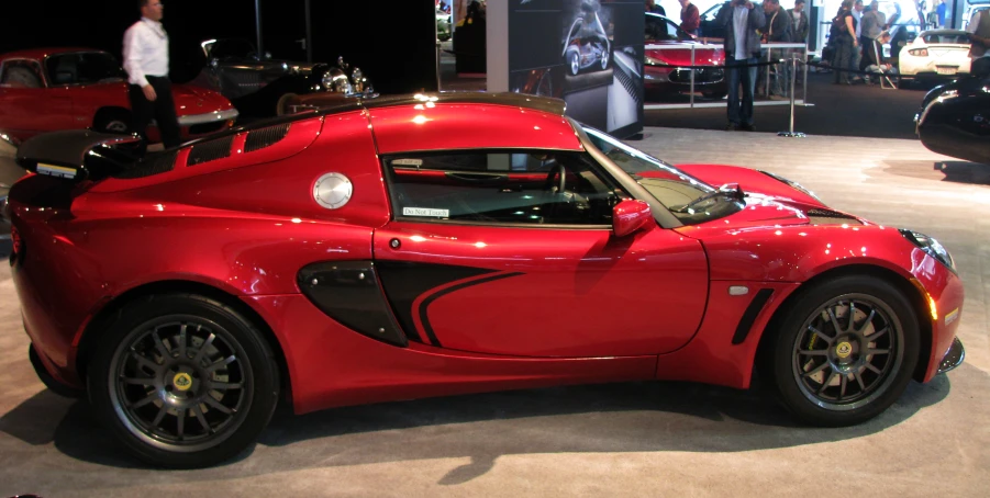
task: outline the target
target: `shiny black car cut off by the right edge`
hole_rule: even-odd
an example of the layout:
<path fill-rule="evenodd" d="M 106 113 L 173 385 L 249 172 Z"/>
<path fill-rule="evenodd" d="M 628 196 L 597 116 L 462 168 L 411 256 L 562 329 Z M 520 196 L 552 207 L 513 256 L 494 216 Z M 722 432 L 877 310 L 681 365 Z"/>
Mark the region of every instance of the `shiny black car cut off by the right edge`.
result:
<path fill-rule="evenodd" d="M 928 91 L 915 114 L 915 129 L 933 152 L 990 166 L 990 73 Z"/>

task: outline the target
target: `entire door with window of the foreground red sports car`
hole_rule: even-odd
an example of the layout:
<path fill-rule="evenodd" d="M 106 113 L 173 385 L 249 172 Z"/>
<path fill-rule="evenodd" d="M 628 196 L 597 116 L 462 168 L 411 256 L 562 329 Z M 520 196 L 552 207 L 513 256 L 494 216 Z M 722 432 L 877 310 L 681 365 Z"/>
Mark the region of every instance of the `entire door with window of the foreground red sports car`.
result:
<path fill-rule="evenodd" d="M 611 230 L 626 194 L 586 152 L 460 150 L 382 158 L 382 288 L 410 340 L 515 356 L 643 355 L 693 336 L 700 244 Z"/>

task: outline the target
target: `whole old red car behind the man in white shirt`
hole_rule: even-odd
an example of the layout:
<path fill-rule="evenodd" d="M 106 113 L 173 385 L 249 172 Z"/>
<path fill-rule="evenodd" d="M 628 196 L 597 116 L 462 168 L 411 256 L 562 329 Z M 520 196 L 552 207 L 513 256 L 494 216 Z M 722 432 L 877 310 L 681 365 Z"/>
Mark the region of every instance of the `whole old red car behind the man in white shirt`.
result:
<path fill-rule="evenodd" d="M 237 111 L 223 95 L 173 86 L 183 138 L 234 125 Z M 91 128 L 131 131 L 127 77 L 109 53 L 90 48 L 41 48 L 0 56 L 0 131 L 24 139 L 43 132 Z M 148 138 L 158 139 L 157 129 Z"/>

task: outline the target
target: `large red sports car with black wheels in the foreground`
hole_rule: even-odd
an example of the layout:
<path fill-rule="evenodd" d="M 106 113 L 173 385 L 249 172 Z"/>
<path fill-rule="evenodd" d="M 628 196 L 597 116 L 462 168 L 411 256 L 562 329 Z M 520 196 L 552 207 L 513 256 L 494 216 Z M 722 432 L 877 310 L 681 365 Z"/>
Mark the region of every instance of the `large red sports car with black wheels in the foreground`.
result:
<path fill-rule="evenodd" d="M 296 412 L 631 380 L 861 422 L 961 362 L 924 235 L 728 166 L 674 167 L 515 93 L 379 98 L 129 162 L 22 144 L 30 358 L 136 455 L 201 466 Z"/>

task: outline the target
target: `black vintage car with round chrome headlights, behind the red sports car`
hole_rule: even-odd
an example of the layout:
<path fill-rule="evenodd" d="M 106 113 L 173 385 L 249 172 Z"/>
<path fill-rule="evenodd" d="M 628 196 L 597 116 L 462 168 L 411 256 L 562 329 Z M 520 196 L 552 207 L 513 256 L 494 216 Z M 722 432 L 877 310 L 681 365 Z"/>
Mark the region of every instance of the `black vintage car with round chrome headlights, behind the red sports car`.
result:
<path fill-rule="evenodd" d="M 308 93 L 377 95 L 361 70 L 342 58 L 335 66 L 272 59 L 242 38 L 208 39 L 201 47 L 207 64 L 189 84 L 222 93 L 245 118 L 285 114 L 288 99 Z"/>

